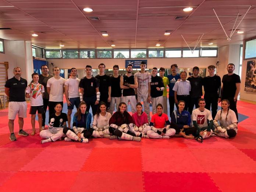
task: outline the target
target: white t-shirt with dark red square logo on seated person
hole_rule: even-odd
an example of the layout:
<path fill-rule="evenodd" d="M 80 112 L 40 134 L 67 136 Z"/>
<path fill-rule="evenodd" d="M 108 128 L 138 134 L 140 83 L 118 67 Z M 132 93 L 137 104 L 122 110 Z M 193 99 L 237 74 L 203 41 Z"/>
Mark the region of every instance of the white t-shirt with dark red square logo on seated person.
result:
<path fill-rule="evenodd" d="M 203 112 L 200 111 L 199 108 L 192 111 L 192 121 L 196 121 L 198 127 L 207 127 L 207 120 L 213 120 L 211 117 L 211 111 L 208 109 L 205 109 Z"/>

